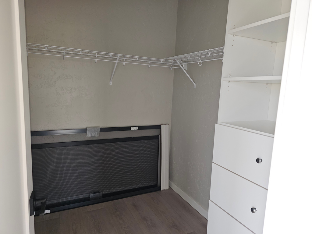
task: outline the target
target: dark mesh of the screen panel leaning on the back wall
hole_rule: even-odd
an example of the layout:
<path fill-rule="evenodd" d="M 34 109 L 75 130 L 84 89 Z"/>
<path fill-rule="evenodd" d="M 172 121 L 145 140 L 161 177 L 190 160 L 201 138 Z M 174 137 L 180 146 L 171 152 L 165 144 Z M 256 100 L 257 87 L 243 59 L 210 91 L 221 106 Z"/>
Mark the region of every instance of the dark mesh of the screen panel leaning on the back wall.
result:
<path fill-rule="evenodd" d="M 158 139 L 32 149 L 37 198 L 65 201 L 157 184 Z"/>

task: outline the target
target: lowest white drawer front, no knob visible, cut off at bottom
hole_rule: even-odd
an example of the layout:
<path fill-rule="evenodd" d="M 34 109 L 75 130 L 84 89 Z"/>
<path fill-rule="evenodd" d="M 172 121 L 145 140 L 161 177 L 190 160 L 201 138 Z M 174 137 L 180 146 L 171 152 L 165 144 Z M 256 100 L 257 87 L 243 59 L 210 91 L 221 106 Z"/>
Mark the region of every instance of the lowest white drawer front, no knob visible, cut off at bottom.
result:
<path fill-rule="evenodd" d="M 230 215 L 209 201 L 207 234 L 253 234 Z"/>

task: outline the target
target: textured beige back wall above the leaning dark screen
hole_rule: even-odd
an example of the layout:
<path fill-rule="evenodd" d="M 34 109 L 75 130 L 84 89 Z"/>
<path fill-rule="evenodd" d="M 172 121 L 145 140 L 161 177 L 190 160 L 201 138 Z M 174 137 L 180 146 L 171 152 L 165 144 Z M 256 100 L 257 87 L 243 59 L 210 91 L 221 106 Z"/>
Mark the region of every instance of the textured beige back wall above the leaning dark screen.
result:
<path fill-rule="evenodd" d="M 173 56 L 177 0 L 26 0 L 27 42 L 137 56 Z M 28 56 L 35 130 L 170 124 L 173 71 Z"/>

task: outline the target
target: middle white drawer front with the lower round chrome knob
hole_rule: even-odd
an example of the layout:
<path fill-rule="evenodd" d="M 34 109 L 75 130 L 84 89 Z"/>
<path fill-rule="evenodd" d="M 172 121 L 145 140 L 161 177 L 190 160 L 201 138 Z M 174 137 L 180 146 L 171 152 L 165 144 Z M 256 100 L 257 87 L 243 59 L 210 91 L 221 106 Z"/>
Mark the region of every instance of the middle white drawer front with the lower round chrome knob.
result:
<path fill-rule="evenodd" d="M 210 200 L 256 234 L 263 231 L 266 195 L 266 189 L 212 163 Z"/>

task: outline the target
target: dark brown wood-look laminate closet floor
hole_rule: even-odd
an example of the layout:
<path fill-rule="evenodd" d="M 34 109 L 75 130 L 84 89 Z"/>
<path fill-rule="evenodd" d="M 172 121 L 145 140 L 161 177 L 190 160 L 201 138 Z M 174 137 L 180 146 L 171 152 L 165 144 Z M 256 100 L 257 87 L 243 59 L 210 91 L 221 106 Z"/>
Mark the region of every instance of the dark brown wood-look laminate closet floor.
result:
<path fill-rule="evenodd" d="M 207 220 L 171 188 L 35 217 L 35 234 L 206 234 Z"/>

